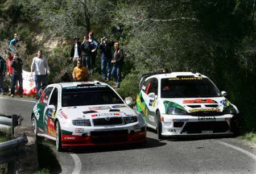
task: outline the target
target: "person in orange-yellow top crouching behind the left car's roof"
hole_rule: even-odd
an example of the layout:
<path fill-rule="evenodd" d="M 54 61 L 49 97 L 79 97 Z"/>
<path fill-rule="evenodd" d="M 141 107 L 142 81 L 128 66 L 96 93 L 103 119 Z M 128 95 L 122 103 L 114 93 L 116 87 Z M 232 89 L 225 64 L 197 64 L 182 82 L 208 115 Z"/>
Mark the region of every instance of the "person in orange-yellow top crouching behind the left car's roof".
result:
<path fill-rule="evenodd" d="M 88 81 L 88 78 L 88 69 L 81 64 L 80 60 L 77 60 L 77 67 L 73 70 L 73 79 L 75 81 Z"/>

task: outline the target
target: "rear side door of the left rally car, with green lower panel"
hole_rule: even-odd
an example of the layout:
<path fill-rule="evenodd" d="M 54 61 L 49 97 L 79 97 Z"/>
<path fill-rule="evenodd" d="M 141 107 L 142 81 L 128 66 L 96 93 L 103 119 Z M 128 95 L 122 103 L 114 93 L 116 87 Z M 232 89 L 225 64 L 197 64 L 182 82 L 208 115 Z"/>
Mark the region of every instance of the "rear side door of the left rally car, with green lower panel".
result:
<path fill-rule="evenodd" d="M 49 96 L 52 93 L 53 87 L 48 87 L 42 93 L 39 102 L 34 107 L 34 114 L 37 119 L 37 126 L 39 127 L 39 133 L 45 133 L 46 127 L 44 124 L 44 113 L 49 100 Z"/>

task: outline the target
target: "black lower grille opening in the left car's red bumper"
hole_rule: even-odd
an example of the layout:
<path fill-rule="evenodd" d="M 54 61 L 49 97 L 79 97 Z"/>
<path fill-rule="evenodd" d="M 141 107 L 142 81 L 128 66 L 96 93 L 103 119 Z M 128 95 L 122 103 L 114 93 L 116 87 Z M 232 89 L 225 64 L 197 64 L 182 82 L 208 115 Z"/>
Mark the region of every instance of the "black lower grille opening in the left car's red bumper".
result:
<path fill-rule="evenodd" d="M 118 143 L 126 142 L 128 130 L 92 131 L 90 132 L 92 143 Z"/>

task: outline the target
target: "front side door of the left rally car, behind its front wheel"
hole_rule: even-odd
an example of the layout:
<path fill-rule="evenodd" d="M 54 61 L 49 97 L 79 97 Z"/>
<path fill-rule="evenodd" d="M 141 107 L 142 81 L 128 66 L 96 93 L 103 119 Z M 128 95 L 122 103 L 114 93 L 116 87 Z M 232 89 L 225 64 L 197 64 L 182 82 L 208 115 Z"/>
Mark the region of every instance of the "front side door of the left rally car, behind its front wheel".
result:
<path fill-rule="evenodd" d="M 54 88 L 51 93 L 51 96 L 49 97 L 49 102 L 47 103 L 46 112 L 44 114 L 44 125 L 46 125 L 46 134 L 53 137 L 56 137 L 54 122 L 55 122 L 57 103 L 58 103 L 58 89 Z"/>

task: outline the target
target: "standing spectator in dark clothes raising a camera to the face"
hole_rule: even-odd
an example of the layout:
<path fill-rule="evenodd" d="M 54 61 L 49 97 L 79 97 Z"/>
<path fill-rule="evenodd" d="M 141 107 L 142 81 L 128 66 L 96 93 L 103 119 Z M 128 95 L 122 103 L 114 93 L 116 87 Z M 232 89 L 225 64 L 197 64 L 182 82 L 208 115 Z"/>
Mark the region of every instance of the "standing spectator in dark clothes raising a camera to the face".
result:
<path fill-rule="evenodd" d="M 104 80 L 109 81 L 111 72 L 111 48 L 114 42 L 109 41 L 106 37 L 101 38 L 100 50 L 101 50 L 101 76 Z M 106 73 L 107 71 L 107 73 Z"/>

